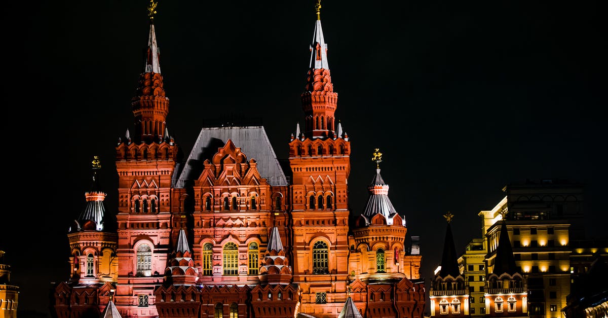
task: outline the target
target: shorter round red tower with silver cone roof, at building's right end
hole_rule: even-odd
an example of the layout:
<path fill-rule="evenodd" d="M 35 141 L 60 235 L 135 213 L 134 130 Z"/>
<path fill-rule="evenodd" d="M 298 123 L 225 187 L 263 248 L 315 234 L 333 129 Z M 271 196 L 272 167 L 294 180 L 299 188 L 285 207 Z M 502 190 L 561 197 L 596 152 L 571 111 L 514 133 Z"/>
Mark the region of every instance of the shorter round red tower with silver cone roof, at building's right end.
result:
<path fill-rule="evenodd" d="M 353 302 L 367 317 L 424 314 L 424 279 L 419 269 L 422 256 L 406 255 L 406 221 L 389 199 L 389 185 L 380 175 L 382 154 L 372 161 L 376 174 L 368 189 L 370 197 L 350 238 L 348 266 Z"/>

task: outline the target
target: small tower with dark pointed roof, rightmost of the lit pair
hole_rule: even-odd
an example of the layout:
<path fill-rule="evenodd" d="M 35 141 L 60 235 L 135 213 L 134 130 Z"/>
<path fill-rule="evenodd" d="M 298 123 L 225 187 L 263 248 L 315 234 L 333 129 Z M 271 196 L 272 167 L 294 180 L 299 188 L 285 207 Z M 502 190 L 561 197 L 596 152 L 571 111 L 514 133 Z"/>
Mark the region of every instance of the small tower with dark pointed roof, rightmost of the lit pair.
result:
<path fill-rule="evenodd" d="M 505 215 L 506 211 L 502 213 L 492 274 L 486 280 L 486 314 L 489 317 L 528 317 L 528 291 L 515 265 Z"/>

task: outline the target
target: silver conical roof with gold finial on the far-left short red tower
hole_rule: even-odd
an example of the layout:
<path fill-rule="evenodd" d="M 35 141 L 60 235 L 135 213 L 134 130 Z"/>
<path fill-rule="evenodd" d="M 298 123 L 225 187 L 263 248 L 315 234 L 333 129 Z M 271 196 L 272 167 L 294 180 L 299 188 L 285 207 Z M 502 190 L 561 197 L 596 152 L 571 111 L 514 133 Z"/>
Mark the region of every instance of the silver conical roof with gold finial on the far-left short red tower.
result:
<path fill-rule="evenodd" d="M 99 191 L 97 172 L 102 168 L 99 157 L 95 156 L 92 160 L 92 184 L 91 190 L 85 193 L 85 208 L 81 211 L 76 220 L 75 228 L 72 230 L 95 230 L 103 231 L 105 207 L 103 200 L 106 194 Z"/>

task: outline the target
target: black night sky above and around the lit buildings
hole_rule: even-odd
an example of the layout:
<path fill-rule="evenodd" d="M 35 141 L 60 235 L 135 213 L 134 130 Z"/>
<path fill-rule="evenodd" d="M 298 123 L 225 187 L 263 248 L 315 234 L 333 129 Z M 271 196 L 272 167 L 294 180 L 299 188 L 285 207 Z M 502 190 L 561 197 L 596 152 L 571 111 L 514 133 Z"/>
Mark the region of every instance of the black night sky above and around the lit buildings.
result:
<path fill-rule="evenodd" d="M 351 211 L 364 208 L 379 147 L 389 197 L 408 234 L 421 236 L 427 280 L 440 261 L 441 215 L 455 214 L 460 252 L 481 235 L 478 211 L 526 178 L 585 183 L 588 234 L 605 237 L 600 2 L 323 1 L 336 118 L 353 150 Z M 94 155 L 116 211 L 114 145 L 132 127 L 147 4 L 43 2 L 5 13 L 23 13 L 5 28 L 14 44 L 4 51 L 15 55 L 5 60 L 5 184 L 15 188 L 5 193 L 13 204 L 0 241 L 20 309 L 46 311 L 49 282 L 69 275 L 66 231 Z M 303 121 L 313 1 L 161 1 L 157 11 L 167 125 L 185 153 L 205 121 L 236 114 L 261 118 L 286 158 Z"/>

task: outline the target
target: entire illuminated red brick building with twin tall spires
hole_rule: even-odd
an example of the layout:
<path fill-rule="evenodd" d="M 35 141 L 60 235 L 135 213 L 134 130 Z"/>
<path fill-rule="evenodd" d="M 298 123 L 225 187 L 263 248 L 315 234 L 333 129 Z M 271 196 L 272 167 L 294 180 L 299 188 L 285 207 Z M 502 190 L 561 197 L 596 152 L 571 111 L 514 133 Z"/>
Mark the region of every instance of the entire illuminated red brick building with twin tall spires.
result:
<path fill-rule="evenodd" d="M 106 304 L 125 318 L 423 316 L 421 255 L 406 253 L 406 223 L 379 168 L 364 216 L 349 228 L 351 147 L 334 116 L 319 8 L 305 125 L 291 135 L 286 171 L 261 126 L 204 127 L 182 155 L 150 25 L 135 127 L 116 144 L 116 230 L 105 193 L 89 191 L 68 235 L 71 279 L 55 289 L 58 316 Z"/>

